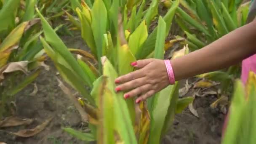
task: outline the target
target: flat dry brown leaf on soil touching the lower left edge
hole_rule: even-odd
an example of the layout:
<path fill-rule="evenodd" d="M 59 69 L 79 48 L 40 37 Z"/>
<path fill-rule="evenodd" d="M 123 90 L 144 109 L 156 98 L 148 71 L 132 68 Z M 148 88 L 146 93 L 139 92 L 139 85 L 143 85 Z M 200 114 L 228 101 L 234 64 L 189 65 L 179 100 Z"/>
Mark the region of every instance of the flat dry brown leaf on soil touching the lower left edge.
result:
<path fill-rule="evenodd" d="M 20 118 L 20 117 L 6 117 L 0 121 L 0 127 L 12 127 L 18 125 L 30 125 L 34 120 L 30 118 Z"/>

